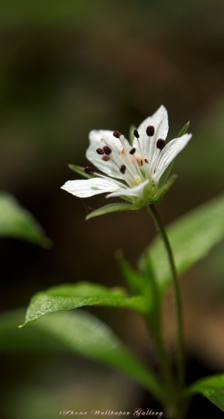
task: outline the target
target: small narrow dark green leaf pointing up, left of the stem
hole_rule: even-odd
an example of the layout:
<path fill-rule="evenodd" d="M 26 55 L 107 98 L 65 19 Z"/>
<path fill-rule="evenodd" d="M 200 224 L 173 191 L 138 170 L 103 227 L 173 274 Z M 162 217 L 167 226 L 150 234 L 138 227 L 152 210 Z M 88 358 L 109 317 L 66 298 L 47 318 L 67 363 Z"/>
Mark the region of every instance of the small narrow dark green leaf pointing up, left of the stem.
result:
<path fill-rule="evenodd" d="M 128 263 L 128 261 L 123 256 L 122 250 L 117 249 L 115 252 L 115 257 L 130 292 L 134 295 L 142 294 L 142 290 L 145 284 L 145 277 L 143 277 L 139 272 L 135 271 L 135 269 Z"/>

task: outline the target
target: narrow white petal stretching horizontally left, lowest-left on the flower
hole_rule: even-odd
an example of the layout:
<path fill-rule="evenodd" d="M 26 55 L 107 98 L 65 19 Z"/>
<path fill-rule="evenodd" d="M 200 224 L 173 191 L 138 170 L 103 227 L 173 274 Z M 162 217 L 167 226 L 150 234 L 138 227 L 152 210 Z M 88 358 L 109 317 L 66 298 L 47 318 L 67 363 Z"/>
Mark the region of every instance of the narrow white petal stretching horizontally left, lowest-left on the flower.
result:
<path fill-rule="evenodd" d="M 65 189 L 65 191 L 75 195 L 76 197 L 87 198 L 104 192 L 117 191 L 121 188 L 113 181 L 109 181 L 104 178 L 92 178 L 68 181 L 61 187 L 61 189 Z M 124 188 L 124 191 L 125 190 L 126 189 Z"/>

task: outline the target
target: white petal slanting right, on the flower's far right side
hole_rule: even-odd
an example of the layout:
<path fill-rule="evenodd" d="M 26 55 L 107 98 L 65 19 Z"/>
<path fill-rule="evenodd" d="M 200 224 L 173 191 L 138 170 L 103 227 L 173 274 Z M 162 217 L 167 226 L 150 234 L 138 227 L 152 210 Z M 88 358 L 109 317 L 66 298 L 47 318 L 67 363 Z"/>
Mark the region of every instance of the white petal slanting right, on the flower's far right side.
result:
<path fill-rule="evenodd" d="M 158 161 L 156 163 L 156 171 L 152 176 L 153 180 L 157 183 L 160 176 L 169 166 L 169 163 L 180 153 L 180 151 L 188 144 L 192 134 L 185 134 L 182 137 L 175 138 L 167 143 L 161 151 Z"/>

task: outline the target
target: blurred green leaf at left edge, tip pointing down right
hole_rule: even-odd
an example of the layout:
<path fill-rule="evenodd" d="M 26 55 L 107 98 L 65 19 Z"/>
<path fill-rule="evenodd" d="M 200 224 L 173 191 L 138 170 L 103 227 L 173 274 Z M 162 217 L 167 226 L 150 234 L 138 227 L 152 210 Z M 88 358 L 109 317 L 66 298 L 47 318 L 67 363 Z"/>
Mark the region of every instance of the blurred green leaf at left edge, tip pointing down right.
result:
<path fill-rule="evenodd" d="M 52 246 L 39 222 L 7 192 L 0 192 L 0 236 L 19 238 L 44 248 Z"/>

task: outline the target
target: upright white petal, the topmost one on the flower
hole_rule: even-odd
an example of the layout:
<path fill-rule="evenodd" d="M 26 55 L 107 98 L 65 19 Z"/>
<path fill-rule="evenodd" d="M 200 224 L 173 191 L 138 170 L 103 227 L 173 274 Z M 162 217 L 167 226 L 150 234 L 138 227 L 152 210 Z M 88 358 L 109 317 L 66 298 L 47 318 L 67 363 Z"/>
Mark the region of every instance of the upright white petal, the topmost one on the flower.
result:
<path fill-rule="evenodd" d="M 155 128 L 155 134 L 153 137 L 148 137 L 146 134 L 146 128 L 149 125 L 153 125 Z M 153 166 L 154 158 L 157 152 L 156 142 L 159 138 L 165 140 L 167 138 L 167 132 L 169 129 L 168 115 L 165 106 L 161 105 L 159 109 L 152 115 L 148 116 L 138 127 L 138 134 L 140 135 L 139 141 L 144 156 L 147 158 L 150 167 Z M 149 147 L 150 141 L 150 147 Z M 133 147 L 138 147 L 138 142 L 134 139 Z"/>

